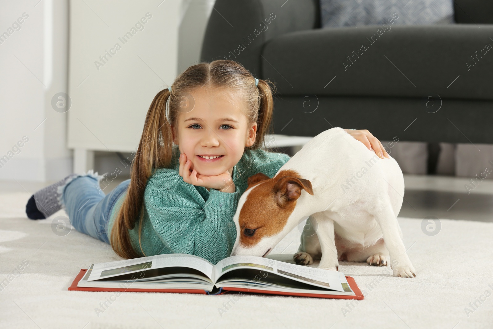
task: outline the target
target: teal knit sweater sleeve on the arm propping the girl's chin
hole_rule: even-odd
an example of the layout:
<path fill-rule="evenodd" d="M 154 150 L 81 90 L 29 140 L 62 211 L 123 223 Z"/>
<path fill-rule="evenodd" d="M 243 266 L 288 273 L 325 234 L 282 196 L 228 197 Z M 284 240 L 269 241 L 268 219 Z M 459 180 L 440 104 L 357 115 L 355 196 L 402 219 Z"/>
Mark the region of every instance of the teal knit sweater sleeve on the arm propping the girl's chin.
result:
<path fill-rule="evenodd" d="M 162 253 L 196 255 L 213 264 L 230 256 L 236 239 L 238 188 L 234 193 L 211 189 L 203 206 L 177 191 L 153 189 L 145 196 L 151 224 L 166 247 Z"/>

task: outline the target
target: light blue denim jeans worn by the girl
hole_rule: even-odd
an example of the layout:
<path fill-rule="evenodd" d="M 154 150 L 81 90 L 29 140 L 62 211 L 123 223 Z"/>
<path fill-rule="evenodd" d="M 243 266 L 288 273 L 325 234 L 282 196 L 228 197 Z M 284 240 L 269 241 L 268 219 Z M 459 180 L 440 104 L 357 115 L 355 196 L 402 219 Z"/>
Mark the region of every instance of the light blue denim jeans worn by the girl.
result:
<path fill-rule="evenodd" d="M 80 176 L 65 185 L 62 201 L 70 224 L 79 232 L 109 244 L 107 223 L 116 200 L 127 190 L 130 180 L 120 183 L 107 195 L 94 175 Z"/>

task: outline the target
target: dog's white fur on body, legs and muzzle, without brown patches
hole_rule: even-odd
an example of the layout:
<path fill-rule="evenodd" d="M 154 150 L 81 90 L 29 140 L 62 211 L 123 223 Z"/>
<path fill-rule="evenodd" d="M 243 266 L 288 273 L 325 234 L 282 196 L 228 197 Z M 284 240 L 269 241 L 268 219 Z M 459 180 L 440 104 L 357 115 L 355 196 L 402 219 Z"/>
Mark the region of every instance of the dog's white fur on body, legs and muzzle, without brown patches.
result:
<path fill-rule="evenodd" d="M 396 219 L 402 206 L 404 179 L 392 157 L 379 158 L 374 151 L 336 127 L 313 138 L 282 166 L 278 174 L 288 169 L 309 180 L 314 195 L 302 189 L 282 230 L 245 248 L 238 243 L 239 214 L 255 186 L 249 188 L 241 196 L 234 217 L 237 238 L 231 255 L 265 256 L 310 216 L 308 220 L 317 234 L 304 230 L 299 252 L 294 255 L 297 263 L 310 264 L 313 259 L 320 258 L 319 268 L 338 270 L 339 260 L 344 257 L 348 261 L 366 260 L 372 265 L 386 266 L 390 256 L 394 276 L 416 276 Z M 248 202 L 254 200 L 250 198 Z"/>

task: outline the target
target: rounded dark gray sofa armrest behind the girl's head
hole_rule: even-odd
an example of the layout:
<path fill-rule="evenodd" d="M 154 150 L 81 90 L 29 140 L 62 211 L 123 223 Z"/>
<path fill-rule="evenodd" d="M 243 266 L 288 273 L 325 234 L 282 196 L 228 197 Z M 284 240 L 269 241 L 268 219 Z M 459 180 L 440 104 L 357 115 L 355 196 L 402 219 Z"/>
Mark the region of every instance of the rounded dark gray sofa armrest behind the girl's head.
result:
<path fill-rule="evenodd" d="M 320 27 L 318 0 L 216 0 L 201 60 L 229 59 L 261 78 L 262 48 L 273 37 Z"/>

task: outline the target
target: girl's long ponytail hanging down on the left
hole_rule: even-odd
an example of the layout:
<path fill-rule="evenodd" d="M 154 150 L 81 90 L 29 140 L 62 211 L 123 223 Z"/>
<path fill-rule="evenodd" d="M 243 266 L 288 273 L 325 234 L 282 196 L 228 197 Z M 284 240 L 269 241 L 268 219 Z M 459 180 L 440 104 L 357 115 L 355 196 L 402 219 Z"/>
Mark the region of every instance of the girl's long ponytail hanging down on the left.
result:
<path fill-rule="evenodd" d="M 147 180 L 152 175 L 153 169 L 169 167 L 171 164 L 173 137 L 171 122 L 165 115 L 169 96 L 168 89 L 161 90 L 154 97 L 147 111 L 141 141 L 131 167 L 130 185 L 111 229 L 111 247 L 121 257 L 140 257 L 132 247 L 128 230 L 135 227 L 136 220 L 139 218 L 140 245 L 143 218 L 141 209 Z M 143 254 L 142 248 L 141 252 Z"/>

